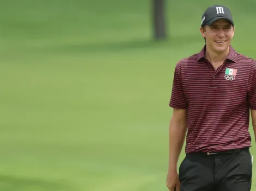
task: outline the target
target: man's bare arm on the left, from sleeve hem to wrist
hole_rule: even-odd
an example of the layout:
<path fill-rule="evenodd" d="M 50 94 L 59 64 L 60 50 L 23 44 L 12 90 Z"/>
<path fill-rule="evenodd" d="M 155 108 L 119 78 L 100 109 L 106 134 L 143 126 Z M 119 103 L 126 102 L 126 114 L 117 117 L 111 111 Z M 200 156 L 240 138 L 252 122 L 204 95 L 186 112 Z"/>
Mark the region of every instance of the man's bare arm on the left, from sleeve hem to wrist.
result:
<path fill-rule="evenodd" d="M 177 171 L 177 163 L 184 145 L 186 130 L 187 110 L 173 109 L 173 116 L 169 124 L 169 171 Z"/>

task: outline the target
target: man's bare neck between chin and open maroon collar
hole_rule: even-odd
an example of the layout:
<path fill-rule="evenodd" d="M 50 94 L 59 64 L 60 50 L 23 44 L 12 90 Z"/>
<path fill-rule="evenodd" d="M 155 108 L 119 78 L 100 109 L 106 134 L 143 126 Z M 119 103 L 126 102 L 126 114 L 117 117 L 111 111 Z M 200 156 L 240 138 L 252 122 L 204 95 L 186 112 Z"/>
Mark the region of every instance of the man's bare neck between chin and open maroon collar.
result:
<path fill-rule="evenodd" d="M 223 63 L 225 59 L 227 58 L 229 53 L 229 47 L 228 49 L 223 53 L 216 53 L 211 51 L 210 49 L 206 48 L 205 51 L 205 58 L 214 65 L 215 63 Z"/>

